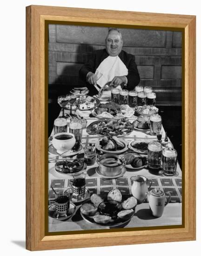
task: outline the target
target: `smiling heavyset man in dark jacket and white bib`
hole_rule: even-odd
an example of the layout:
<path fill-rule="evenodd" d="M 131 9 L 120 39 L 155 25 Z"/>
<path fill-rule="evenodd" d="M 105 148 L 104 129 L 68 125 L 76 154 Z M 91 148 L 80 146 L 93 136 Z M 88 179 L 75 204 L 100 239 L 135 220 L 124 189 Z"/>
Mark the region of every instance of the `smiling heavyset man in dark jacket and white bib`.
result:
<path fill-rule="evenodd" d="M 80 78 L 87 82 L 90 94 L 96 94 L 106 84 L 109 90 L 133 90 L 139 84 L 140 76 L 134 55 L 122 50 L 123 40 L 119 30 L 110 28 L 105 43 L 106 48 L 94 51 L 89 61 L 81 67 Z"/>

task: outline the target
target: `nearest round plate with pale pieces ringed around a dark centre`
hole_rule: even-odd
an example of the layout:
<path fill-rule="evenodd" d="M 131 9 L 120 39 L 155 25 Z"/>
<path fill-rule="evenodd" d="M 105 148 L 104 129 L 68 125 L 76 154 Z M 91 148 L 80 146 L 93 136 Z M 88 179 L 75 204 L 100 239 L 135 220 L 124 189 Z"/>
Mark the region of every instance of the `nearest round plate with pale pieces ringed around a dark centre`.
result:
<path fill-rule="evenodd" d="M 137 199 L 130 196 L 122 200 L 121 191 L 112 189 L 105 200 L 97 194 L 80 207 L 80 214 L 84 220 L 95 225 L 114 227 L 129 222 L 135 213 Z"/>

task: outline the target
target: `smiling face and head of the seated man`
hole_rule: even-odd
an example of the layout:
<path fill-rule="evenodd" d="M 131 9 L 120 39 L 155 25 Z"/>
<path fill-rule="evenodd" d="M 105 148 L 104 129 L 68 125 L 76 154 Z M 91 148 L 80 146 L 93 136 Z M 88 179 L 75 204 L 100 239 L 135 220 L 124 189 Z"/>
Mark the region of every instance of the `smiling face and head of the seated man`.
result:
<path fill-rule="evenodd" d="M 123 46 L 120 34 L 117 31 L 111 31 L 106 38 L 106 50 L 110 56 L 120 54 Z"/>

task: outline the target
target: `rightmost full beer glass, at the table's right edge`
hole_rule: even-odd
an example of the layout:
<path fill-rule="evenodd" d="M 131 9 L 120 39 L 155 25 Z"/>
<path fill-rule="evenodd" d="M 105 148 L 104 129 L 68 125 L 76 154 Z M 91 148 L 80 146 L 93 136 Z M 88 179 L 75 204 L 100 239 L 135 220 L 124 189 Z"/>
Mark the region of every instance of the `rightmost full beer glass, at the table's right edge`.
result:
<path fill-rule="evenodd" d="M 162 152 L 163 174 L 174 176 L 177 166 L 177 151 L 174 148 L 164 148 Z"/>

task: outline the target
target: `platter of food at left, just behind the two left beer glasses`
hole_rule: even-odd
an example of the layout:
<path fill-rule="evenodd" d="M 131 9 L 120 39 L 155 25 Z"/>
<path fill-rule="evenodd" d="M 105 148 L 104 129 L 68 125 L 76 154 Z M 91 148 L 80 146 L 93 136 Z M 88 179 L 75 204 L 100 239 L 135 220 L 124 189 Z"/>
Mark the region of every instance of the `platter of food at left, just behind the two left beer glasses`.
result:
<path fill-rule="evenodd" d="M 93 109 L 99 106 L 99 99 L 89 96 L 89 95 L 67 95 L 67 104 L 65 106 L 66 109 L 86 111 L 89 109 Z"/>

